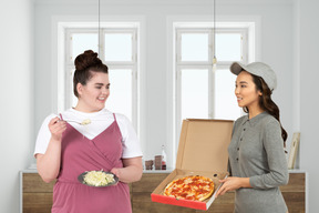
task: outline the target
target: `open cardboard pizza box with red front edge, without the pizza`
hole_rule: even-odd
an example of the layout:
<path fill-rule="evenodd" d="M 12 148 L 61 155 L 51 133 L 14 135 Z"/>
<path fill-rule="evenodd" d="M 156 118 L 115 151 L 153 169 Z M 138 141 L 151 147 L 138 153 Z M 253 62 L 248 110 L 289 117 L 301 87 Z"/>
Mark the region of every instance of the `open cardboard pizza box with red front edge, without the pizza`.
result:
<path fill-rule="evenodd" d="M 220 187 L 219 180 L 227 178 L 228 152 L 233 121 L 187 119 L 181 131 L 176 169 L 153 191 L 153 202 L 179 205 L 197 210 L 208 210 Z M 213 195 L 203 202 L 177 200 L 164 195 L 164 189 L 173 180 L 203 175 L 214 181 Z"/>

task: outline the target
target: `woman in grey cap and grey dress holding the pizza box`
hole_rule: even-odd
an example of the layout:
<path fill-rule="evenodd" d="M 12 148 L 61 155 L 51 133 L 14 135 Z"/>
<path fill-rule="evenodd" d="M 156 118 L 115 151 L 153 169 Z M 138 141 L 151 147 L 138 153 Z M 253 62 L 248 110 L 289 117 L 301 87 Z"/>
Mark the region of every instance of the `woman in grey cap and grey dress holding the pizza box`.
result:
<path fill-rule="evenodd" d="M 235 62 L 235 94 L 247 112 L 235 121 L 228 146 L 230 176 L 217 195 L 235 190 L 235 213 L 286 213 L 279 190 L 288 183 L 285 154 L 287 132 L 279 121 L 279 109 L 271 100 L 277 79 L 271 68 L 261 62 Z"/>

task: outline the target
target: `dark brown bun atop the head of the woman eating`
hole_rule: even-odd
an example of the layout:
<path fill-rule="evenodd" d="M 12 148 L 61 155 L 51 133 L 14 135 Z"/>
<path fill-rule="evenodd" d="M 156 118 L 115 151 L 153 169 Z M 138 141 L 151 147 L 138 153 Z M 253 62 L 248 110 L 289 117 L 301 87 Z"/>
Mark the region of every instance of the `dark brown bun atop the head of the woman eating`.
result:
<path fill-rule="evenodd" d="M 101 59 L 97 58 L 97 53 L 92 50 L 86 50 L 82 54 L 79 54 L 74 60 L 75 70 L 86 70 L 88 68 L 102 64 Z"/>

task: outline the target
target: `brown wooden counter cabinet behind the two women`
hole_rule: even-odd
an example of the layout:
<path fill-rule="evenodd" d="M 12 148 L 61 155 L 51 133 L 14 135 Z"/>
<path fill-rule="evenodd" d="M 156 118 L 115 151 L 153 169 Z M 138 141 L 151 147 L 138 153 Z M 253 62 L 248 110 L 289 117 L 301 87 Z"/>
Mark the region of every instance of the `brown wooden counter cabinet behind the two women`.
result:
<path fill-rule="evenodd" d="M 50 213 L 52 205 L 52 189 L 54 183 L 44 183 L 37 171 L 22 171 L 21 206 L 23 213 Z M 305 172 L 290 172 L 288 185 L 281 186 L 282 195 L 289 213 L 305 213 L 306 210 L 306 178 Z M 214 201 L 208 211 L 199 211 L 181 206 L 154 203 L 151 201 L 153 190 L 168 173 L 144 173 L 140 182 L 130 184 L 133 213 L 229 213 L 234 210 L 234 192 L 228 192 Z"/>

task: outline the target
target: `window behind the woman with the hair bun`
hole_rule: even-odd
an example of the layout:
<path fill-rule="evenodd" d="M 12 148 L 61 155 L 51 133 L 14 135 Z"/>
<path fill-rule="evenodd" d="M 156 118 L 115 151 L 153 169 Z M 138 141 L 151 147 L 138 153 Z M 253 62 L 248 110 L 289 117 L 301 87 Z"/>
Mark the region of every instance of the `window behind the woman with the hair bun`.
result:
<path fill-rule="evenodd" d="M 109 67 L 111 94 L 105 108 L 125 114 L 137 129 L 137 36 L 136 24 L 125 28 L 101 29 L 100 50 L 96 28 L 65 28 L 64 109 L 75 106 L 73 94 L 74 59 L 85 50 L 99 52 L 99 58 Z"/>

